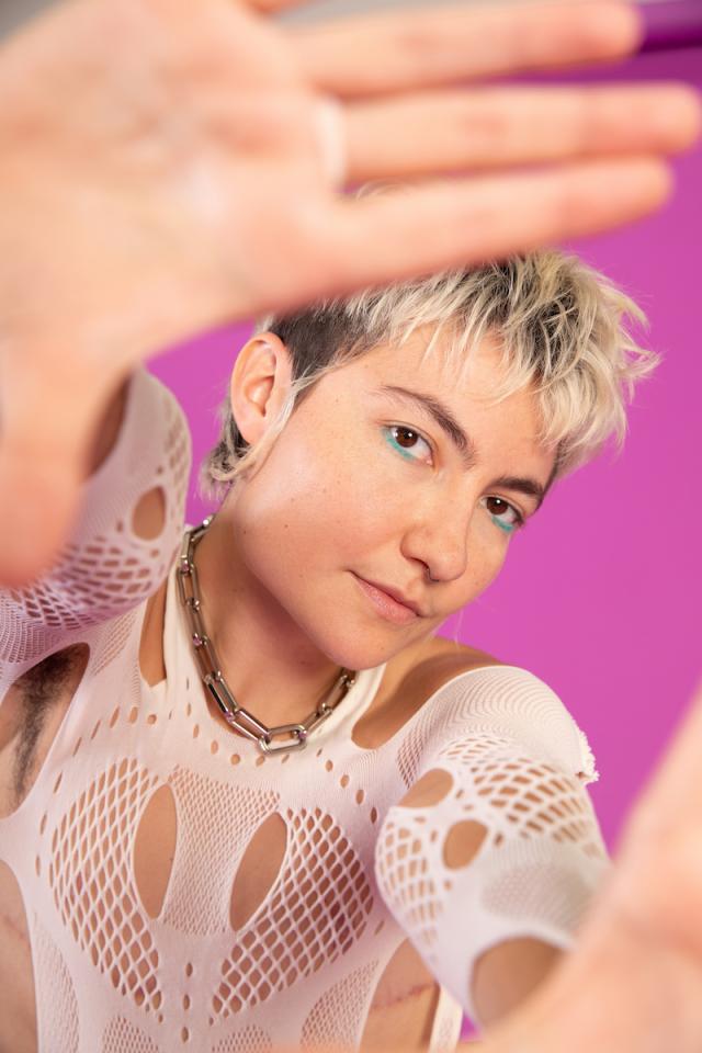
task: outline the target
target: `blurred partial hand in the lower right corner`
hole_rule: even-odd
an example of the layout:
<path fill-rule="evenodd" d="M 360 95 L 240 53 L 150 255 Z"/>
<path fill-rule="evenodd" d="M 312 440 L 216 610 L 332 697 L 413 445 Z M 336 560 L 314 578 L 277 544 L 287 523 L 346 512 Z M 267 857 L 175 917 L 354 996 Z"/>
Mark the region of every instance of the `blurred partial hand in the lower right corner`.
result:
<path fill-rule="evenodd" d="M 702 1049 L 702 689 L 626 824 L 573 953 L 485 1053 Z"/>

